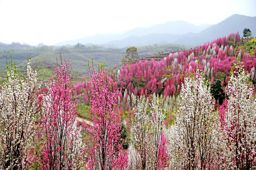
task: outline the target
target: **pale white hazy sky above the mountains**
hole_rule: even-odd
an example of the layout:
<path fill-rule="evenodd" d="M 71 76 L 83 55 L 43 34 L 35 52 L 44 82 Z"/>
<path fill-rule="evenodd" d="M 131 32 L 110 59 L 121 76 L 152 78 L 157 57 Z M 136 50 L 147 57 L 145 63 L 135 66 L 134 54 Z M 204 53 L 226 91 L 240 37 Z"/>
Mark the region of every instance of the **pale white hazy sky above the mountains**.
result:
<path fill-rule="evenodd" d="M 75 40 L 167 21 L 218 24 L 256 16 L 256 0 L 0 0 L 0 42 Z"/>

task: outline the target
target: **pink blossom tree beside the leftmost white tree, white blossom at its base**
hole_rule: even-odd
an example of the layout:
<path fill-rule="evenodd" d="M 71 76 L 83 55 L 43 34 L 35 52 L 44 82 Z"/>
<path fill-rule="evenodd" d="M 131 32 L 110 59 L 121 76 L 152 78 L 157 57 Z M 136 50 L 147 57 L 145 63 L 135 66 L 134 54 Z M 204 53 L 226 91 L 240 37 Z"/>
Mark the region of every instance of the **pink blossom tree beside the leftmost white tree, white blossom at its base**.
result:
<path fill-rule="evenodd" d="M 56 58 L 57 60 L 57 58 Z M 76 127 L 76 100 L 72 101 L 73 86 L 69 85 L 71 64 L 60 54 L 60 66 L 55 77 L 48 80 L 48 95 L 39 127 L 43 135 L 41 168 L 46 170 L 77 169 L 84 163 L 85 146 Z"/>

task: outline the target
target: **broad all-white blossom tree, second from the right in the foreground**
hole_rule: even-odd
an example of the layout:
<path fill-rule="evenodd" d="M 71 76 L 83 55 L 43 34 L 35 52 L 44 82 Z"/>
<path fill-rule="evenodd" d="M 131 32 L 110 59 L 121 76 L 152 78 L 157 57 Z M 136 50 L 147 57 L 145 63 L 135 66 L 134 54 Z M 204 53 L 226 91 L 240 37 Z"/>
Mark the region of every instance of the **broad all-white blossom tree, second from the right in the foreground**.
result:
<path fill-rule="evenodd" d="M 214 169 L 219 158 L 218 115 L 199 69 L 185 77 L 175 116 L 168 134 L 169 169 Z"/>

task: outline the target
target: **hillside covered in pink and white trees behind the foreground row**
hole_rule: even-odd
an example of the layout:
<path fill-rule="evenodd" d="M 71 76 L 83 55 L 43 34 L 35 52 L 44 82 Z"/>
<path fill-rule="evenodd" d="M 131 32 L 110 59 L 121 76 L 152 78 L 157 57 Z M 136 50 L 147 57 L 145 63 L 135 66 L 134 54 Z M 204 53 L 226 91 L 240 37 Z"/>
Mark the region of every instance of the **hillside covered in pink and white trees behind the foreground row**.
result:
<path fill-rule="evenodd" d="M 194 74 L 198 68 L 211 84 L 216 106 L 222 104 L 226 97 L 230 67 L 237 62 L 237 58 L 243 62 L 255 88 L 256 39 L 242 40 L 239 34 L 229 34 L 191 50 L 149 56 L 137 63 L 112 69 L 114 85 L 119 90 L 118 111 L 122 119 L 125 119 L 128 130 L 135 96 L 141 98 L 145 95 L 149 103 L 151 97 L 163 96 L 167 109 L 165 125 L 171 124 L 184 76 Z M 83 92 L 79 105 L 87 105 L 86 109 L 90 102 L 88 83 L 87 80 L 78 81 L 74 92 Z"/>

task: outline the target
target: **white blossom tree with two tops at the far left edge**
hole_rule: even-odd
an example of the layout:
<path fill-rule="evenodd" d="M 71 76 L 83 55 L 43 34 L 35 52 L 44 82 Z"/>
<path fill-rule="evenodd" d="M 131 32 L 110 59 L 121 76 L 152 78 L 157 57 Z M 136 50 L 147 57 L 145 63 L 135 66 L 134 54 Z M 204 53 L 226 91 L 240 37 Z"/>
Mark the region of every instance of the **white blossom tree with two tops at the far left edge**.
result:
<path fill-rule="evenodd" d="M 18 76 L 11 62 L 7 77 L 0 85 L 0 169 L 28 168 L 33 149 L 37 111 L 37 71 L 27 60 L 27 75 Z"/>

